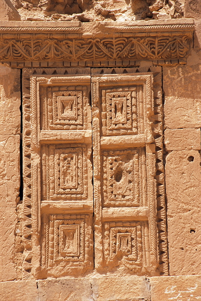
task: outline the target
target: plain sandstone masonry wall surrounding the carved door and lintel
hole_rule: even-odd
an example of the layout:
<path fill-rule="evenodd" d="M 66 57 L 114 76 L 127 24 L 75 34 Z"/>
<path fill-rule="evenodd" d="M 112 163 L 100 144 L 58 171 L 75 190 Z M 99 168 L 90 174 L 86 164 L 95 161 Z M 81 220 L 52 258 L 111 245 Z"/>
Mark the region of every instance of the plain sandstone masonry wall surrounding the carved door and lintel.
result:
<path fill-rule="evenodd" d="M 146 20 L 193 18 L 187 64 L 162 66 L 164 165 L 169 276 L 21 280 L 20 69 L 0 66 L 0 300 L 182 301 L 201 291 L 201 2 L 12 0 L 21 20 Z M 0 6 L 1 7 L 1 6 Z M 6 14 L 8 20 L 19 15 Z M 11 17 L 10 17 L 11 16 Z M 9 19 L 10 18 L 10 19 Z M 140 67 L 152 68 L 152 61 Z M 165 279 L 165 280 L 164 280 Z M 15 281 L 14 281 L 15 280 Z M 14 293 L 13 293 L 14 292 Z M 22 299 L 23 298 L 23 299 Z"/>

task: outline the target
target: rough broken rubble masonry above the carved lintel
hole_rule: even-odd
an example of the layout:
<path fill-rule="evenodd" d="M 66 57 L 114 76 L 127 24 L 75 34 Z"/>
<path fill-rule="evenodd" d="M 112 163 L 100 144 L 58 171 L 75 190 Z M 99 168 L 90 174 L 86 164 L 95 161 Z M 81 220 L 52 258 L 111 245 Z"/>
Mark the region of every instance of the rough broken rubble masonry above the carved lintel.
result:
<path fill-rule="evenodd" d="M 184 0 L 11 0 L 22 20 L 82 22 L 105 19 L 177 19 L 184 16 Z"/>

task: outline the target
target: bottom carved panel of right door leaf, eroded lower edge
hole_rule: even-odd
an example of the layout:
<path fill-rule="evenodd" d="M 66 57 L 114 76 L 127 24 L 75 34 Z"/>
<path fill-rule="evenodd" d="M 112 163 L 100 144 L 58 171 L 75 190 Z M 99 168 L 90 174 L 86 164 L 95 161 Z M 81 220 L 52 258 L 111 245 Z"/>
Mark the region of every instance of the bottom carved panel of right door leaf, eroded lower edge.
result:
<path fill-rule="evenodd" d="M 136 265 L 136 272 L 140 272 L 150 263 L 148 222 L 105 222 L 104 229 L 104 254 L 109 266 L 114 262 L 127 267 Z"/>

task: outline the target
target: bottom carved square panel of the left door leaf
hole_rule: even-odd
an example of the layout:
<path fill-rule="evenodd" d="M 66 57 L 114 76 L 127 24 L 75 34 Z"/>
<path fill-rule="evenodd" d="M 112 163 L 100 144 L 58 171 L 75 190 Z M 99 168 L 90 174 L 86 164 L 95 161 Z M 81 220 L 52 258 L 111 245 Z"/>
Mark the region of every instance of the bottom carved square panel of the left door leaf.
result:
<path fill-rule="evenodd" d="M 42 267 L 49 276 L 75 276 L 92 269 L 92 214 L 43 214 L 41 248 Z"/>

